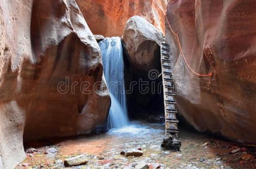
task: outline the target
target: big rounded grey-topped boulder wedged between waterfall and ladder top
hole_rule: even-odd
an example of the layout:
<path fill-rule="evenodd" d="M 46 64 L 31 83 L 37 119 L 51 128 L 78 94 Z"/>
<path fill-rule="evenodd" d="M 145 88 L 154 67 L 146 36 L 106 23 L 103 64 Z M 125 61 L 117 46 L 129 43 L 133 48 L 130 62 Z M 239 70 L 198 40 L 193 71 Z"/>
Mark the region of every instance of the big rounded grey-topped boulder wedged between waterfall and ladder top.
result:
<path fill-rule="evenodd" d="M 140 16 L 131 17 L 122 36 L 131 69 L 150 71 L 159 68 L 162 33 Z"/>

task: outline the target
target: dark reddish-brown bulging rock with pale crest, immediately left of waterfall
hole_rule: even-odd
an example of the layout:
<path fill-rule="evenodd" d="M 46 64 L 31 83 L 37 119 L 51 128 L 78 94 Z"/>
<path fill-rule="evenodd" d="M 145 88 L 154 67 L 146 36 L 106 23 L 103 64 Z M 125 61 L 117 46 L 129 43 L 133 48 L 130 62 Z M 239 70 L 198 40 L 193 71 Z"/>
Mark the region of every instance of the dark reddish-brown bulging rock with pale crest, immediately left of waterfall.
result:
<path fill-rule="evenodd" d="M 110 105 L 99 45 L 75 1 L 64 2 L 34 1 L 31 44 L 37 65 L 27 72 L 33 91 L 25 140 L 88 133 L 104 122 Z"/>

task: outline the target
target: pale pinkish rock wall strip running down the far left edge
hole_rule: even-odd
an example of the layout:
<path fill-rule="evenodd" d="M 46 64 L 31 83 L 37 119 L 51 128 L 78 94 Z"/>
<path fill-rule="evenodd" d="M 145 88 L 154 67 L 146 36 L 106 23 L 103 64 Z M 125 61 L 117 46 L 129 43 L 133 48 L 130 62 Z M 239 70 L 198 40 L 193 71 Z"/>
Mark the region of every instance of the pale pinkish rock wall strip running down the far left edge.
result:
<path fill-rule="evenodd" d="M 29 0 L 0 3 L 0 169 L 13 169 L 26 158 L 23 147 L 26 103 L 18 95 L 22 76 L 17 67 L 25 57 L 32 59 L 32 5 Z"/>

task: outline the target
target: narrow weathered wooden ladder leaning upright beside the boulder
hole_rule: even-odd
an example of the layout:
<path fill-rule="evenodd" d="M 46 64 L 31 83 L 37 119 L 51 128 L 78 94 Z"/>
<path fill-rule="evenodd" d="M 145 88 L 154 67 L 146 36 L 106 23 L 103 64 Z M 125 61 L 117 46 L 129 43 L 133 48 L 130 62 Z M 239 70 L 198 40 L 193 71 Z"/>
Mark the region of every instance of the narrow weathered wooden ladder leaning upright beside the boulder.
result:
<path fill-rule="evenodd" d="M 175 86 L 172 79 L 172 67 L 170 61 L 170 46 L 162 42 L 161 44 L 161 65 L 162 79 L 164 88 L 164 104 L 165 104 L 165 134 L 172 134 L 178 138 L 178 119 L 176 114 L 178 111 L 175 108 L 176 101 Z"/>

